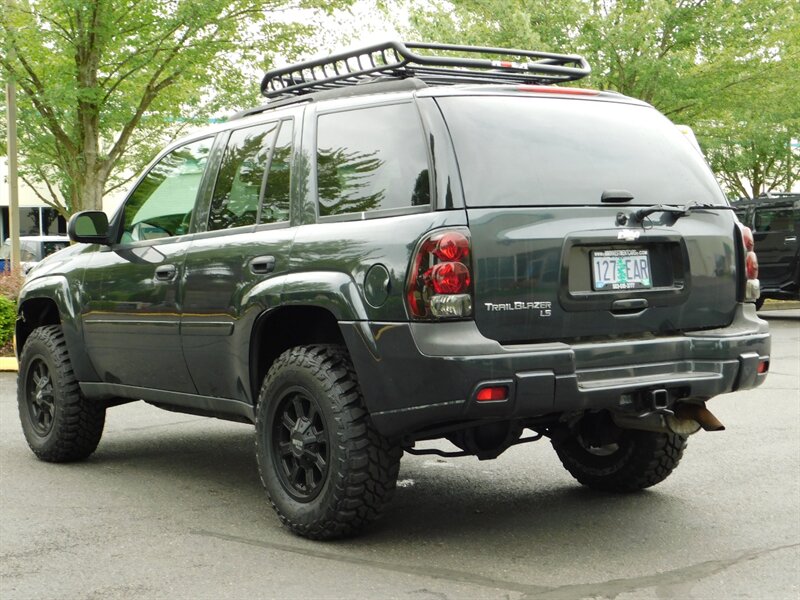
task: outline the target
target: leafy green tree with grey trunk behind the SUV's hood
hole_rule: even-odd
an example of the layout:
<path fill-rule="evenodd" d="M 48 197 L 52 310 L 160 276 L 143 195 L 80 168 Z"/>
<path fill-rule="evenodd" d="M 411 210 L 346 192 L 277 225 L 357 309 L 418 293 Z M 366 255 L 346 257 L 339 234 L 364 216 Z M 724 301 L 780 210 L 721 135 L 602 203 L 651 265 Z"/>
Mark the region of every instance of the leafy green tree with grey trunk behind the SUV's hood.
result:
<path fill-rule="evenodd" d="M 4 79 L 19 97 L 22 178 L 64 216 L 99 209 L 165 136 L 257 102 L 274 55 L 306 50 L 309 11 L 349 0 L 18 0 Z M 295 18 L 290 18 L 294 16 Z"/>

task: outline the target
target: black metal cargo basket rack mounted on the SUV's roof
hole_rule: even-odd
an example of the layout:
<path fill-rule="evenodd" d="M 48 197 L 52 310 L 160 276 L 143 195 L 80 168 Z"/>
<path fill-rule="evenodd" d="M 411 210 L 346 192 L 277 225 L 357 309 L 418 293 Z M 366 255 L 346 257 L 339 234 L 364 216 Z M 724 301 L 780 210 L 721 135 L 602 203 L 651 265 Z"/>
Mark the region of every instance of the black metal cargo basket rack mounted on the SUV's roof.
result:
<path fill-rule="evenodd" d="M 268 71 L 261 93 L 280 99 L 387 77 L 415 77 L 429 85 L 550 84 L 575 81 L 590 72 L 586 59 L 574 54 L 388 41 Z"/>

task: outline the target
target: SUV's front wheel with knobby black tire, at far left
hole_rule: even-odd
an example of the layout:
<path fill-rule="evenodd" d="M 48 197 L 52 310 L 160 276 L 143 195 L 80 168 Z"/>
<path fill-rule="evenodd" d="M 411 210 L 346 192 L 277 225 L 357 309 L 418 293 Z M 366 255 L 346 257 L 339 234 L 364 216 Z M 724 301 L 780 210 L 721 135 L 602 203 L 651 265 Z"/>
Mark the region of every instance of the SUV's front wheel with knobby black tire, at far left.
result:
<path fill-rule="evenodd" d="M 38 327 L 26 340 L 17 401 L 25 439 L 40 459 L 82 460 L 97 448 L 106 410 L 81 394 L 61 327 Z"/>

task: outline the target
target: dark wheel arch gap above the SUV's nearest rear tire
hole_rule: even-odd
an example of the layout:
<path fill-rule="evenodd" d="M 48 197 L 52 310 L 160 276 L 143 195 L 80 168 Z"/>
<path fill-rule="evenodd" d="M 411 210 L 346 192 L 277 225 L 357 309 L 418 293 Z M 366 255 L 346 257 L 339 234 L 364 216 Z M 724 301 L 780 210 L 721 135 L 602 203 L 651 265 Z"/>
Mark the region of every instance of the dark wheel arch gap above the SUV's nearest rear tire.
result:
<path fill-rule="evenodd" d="M 264 313 L 253 328 L 250 352 L 250 386 L 253 403 L 261 382 L 284 351 L 309 344 L 342 344 L 336 317 L 317 306 L 287 306 Z"/>

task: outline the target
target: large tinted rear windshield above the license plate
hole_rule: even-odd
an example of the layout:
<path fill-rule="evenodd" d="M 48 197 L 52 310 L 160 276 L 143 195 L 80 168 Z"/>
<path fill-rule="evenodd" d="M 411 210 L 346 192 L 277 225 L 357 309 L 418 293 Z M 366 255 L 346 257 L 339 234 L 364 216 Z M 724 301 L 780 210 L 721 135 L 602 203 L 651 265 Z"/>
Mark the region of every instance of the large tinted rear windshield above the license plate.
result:
<path fill-rule="evenodd" d="M 439 98 L 468 206 L 592 205 L 725 199 L 702 157 L 656 110 L 562 98 Z"/>

